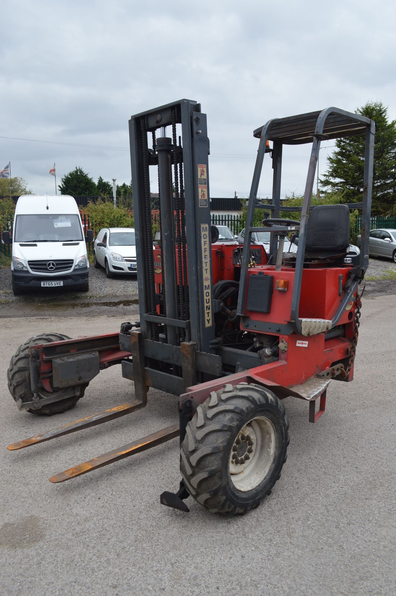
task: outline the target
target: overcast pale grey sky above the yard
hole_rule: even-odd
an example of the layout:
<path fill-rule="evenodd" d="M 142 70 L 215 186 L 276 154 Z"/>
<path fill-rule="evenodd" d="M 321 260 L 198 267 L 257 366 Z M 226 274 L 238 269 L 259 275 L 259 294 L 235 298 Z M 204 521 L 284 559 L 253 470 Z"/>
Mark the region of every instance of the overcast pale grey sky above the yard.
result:
<path fill-rule="evenodd" d="M 39 194 L 54 193 L 54 162 L 58 183 L 75 166 L 95 181 L 129 182 L 130 116 L 188 98 L 208 116 L 211 195 L 248 195 L 252 131 L 270 118 L 329 105 L 354 111 L 378 100 L 396 119 L 395 7 L 388 0 L 7 2 L 0 169 L 10 161 L 11 174 Z M 320 152 L 320 173 L 333 143 Z M 309 151 L 283 150 L 283 195 L 304 190 Z M 269 161 L 261 196 L 272 188 Z"/>

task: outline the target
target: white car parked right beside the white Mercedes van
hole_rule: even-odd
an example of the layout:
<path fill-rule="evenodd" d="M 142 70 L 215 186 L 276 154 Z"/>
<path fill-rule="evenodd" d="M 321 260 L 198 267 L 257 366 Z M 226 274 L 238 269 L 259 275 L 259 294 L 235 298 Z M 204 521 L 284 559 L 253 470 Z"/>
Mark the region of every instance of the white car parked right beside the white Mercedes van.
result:
<path fill-rule="evenodd" d="M 102 228 L 93 243 L 93 266 L 106 277 L 136 274 L 135 228 Z"/>

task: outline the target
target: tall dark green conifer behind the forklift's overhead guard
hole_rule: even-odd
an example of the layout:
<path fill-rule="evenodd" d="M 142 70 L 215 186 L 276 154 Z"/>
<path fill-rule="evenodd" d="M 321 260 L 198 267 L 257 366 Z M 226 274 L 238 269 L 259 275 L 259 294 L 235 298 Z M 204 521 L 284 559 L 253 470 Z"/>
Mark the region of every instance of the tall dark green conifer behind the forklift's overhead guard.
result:
<path fill-rule="evenodd" d="M 396 202 L 396 121 L 388 122 L 388 108 L 368 102 L 357 114 L 375 122 L 373 167 L 373 215 L 390 215 Z M 342 194 L 343 203 L 363 200 L 364 135 L 336 139 L 336 150 L 328 157 L 328 171 L 320 183 L 332 193 Z"/>

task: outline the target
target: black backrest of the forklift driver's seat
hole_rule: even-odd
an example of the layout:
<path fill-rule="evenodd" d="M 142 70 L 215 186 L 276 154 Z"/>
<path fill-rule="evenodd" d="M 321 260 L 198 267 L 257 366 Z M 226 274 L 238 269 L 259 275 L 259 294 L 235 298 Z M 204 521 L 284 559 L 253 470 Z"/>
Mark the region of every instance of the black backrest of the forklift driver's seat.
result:
<path fill-rule="evenodd" d="M 346 253 L 349 235 L 350 211 L 347 205 L 317 205 L 308 219 L 305 252 L 318 256 Z"/>

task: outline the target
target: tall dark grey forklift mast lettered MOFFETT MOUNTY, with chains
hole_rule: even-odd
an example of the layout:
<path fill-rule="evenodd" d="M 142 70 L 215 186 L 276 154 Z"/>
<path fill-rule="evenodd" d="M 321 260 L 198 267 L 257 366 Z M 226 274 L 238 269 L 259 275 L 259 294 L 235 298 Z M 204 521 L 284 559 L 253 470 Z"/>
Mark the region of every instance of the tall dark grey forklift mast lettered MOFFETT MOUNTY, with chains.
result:
<path fill-rule="evenodd" d="M 167 129 L 172 135 L 166 136 Z M 176 101 L 132 116 L 129 135 L 141 330 L 146 339 L 172 345 L 191 340 L 209 353 L 214 325 L 206 114 L 195 101 Z M 157 262 L 150 173 L 158 180 L 160 203 Z M 163 274 L 160 294 L 155 271 Z M 158 324 L 166 325 L 165 333 L 158 333 Z"/>

